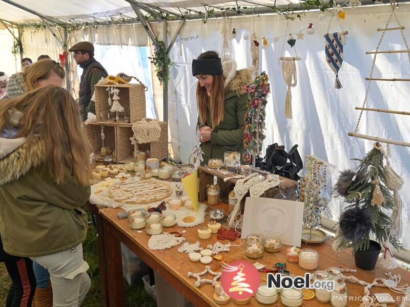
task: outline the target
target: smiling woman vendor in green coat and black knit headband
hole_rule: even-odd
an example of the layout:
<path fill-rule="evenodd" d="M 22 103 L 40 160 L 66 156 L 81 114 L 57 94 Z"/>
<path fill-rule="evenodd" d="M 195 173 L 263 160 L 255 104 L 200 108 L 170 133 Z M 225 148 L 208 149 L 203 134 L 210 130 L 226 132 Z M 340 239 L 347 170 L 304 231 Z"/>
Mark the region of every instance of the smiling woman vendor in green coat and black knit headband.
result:
<path fill-rule="evenodd" d="M 203 163 L 210 158 L 223 159 L 225 151 L 242 155 L 244 117 L 248 96 L 244 85 L 252 82 L 250 70 L 236 71 L 236 63 L 221 63 L 215 51 L 201 53 L 192 61 L 192 75 L 198 79 L 198 125 L 201 134 Z"/>

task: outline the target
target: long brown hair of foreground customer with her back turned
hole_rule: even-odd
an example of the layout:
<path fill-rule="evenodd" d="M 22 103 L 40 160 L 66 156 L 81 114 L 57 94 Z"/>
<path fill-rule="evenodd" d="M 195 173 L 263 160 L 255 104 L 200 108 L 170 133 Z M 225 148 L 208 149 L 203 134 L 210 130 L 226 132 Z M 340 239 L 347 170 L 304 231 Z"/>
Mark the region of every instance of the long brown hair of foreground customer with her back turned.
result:
<path fill-rule="evenodd" d="M 69 92 L 48 85 L 2 101 L 0 130 L 8 122 L 9 110 L 22 113 L 14 138 L 26 137 L 30 142 L 38 136 L 45 142 L 45 167 L 57 184 L 69 175 L 74 175 L 83 185 L 89 184 L 90 145 L 81 130 L 78 104 Z"/>

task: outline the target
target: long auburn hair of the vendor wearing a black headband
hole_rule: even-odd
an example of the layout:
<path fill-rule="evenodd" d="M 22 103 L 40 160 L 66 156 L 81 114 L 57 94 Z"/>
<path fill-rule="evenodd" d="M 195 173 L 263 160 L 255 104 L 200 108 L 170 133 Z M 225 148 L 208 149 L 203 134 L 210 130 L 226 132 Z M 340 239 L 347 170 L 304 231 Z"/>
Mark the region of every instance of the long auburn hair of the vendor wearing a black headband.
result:
<path fill-rule="evenodd" d="M 198 59 L 217 59 L 218 53 L 215 51 L 206 51 L 198 56 Z M 225 115 L 225 77 L 223 75 L 212 75 L 213 83 L 210 96 L 208 96 L 205 87 L 201 87 L 198 82 L 196 87 L 196 100 L 198 102 L 199 119 L 202 124 L 207 121 L 208 110 L 207 103 L 211 110 L 212 128 L 218 126 Z"/>

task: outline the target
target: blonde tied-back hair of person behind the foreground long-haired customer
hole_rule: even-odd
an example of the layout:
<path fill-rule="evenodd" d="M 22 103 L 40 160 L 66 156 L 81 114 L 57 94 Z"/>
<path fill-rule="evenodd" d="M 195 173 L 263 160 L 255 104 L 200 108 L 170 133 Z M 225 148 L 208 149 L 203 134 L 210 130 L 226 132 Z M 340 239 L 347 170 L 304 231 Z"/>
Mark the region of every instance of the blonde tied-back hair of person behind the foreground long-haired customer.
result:
<path fill-rule="evenodd" d="M 51 72 L 55 73 L 61 79 L 64 79 L 66 73 L 64 69 L 54 60 L 44 59 L 35 62 L 26 70 L 25 90 L 32 91 L 37 88 L 35 84 L 38 80 L 47 79 Z"/>

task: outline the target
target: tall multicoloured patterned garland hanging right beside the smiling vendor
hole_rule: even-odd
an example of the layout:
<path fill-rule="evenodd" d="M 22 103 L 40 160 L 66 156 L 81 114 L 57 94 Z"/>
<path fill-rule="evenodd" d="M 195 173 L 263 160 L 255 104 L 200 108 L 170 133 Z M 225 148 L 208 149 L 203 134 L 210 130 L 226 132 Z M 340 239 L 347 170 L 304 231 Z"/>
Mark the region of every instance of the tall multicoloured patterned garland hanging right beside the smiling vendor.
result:
<path fill-rule="evenodd" d="M 269 77 L 265 72 L 256 77 L 255 81 L 244 87 L 248 93 L 248 113 L 245 115 L 245 131 L 243 135 L 243 159 L 251 162 L 252 157 L 259 156 L 262 152 L 262 143 L 265 139 L 265 106 L 267 96 L 271 92 Z"/>

